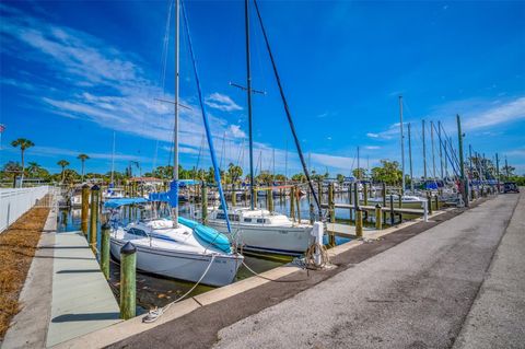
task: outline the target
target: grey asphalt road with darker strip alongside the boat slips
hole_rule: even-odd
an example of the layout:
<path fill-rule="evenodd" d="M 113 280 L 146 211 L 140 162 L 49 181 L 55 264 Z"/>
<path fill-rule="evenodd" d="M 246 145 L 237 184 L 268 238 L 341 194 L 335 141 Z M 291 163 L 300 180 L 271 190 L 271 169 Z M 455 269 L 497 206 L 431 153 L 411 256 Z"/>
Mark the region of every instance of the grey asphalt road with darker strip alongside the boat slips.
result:
<path fill-rule="evenodd" d="M 338 255 L 335 269 L 298 271 L 110 348 L 451 348 L 459 334 L 468 347 L 465 321 L 517 201 L 443 213 Z"/>

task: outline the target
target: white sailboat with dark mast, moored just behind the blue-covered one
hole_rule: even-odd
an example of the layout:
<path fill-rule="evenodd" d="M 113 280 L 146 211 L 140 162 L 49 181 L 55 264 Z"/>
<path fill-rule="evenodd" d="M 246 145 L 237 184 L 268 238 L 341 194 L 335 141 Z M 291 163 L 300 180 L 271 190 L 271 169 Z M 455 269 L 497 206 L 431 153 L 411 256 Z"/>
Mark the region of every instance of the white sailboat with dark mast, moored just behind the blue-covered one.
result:
<path fill-rule="evenodd" d="M 257 14 L 257 3 L 255 3 Z M 217 230 L 226 233 L 229 239 L 237 246 L 242 246 L 245 251 L 253 251 L 258 253 L 271 253 L 282 255 L 300 255 L 304 253 L 313 243 L 312 225 L 307 223 L 293 222 L 289 217 L 270 212 L 266 209 L 258 209 L 256 207 L 255 198 L 255 182 L 254 182 L 254 138 L 253 138 L 253 118 L 252 118 L 252 71 L 250 71 L 250 49 L 249 49 L 249 7 L 248 0 L 244 2 L 244 18 L 245 18 L 245 35 L 246 35 L 246 90 L 247 105 L 248 105 L 248 141 L 249 141 L 249 189 L 250 189 L 250 206 L 249 207 L 233 207 L 230 213 L 225 212 L 224 205 L 212 209 L 208 216 L 207 224 Z M 261 23 L 261 22 L 260 22 Z M 262 23 L 261 23 L 262 24 Z M 264 27 L 262 27 L 264 30 Z M 266 38 L 266 34 L 265 34 Z M 267 43 L 269 48 L 269 45 Z M 270 53 L 270 58 L 271 53 Z M 275 68 L 275 67 L 273 67 Z M 277 69 L 275 68 L 277 75 Z M 278 82 L 279 83 L 279 82 Z M 281 89 L 281 86 L 279 85 Z M 282 89 L 281 96 L 283 97 Z M 304 159 L 296 140 L 296 135 L 291 123 L 288 105 L 285 105 L 287 116 L 292 127 L 292 133 L 295 138 L 295 143 L 300 152 L 303 170 L 310 181 Z M 311 184 L 312 185 L 312 184 Z M 312 188 L 313 189 L 313 188 Z M 313 190 L 312 190 L 313 191 Z M 315 197 L 315 194 L 314 194 Z M 315 197 L 316 199 L 316 197 Z M 317 200 L 317 199 L 316 199 Z M 197 212 L 198 214 L 198 212 Z M 226 219 L 232 221 L 233 233 L 226 231 Z"/>

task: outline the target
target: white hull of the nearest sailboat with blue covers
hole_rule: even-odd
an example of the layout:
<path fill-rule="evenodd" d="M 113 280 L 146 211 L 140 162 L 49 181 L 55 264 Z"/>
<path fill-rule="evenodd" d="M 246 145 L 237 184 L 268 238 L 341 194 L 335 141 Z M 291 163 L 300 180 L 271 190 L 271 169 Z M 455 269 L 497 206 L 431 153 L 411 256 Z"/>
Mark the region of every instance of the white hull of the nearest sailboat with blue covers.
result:
<path fill-rule="evenodd" d="M 127 243 L 125 240 L 110 239 L 112 255 L 120 260 L 120 248 Z M 210 265 L 211 254 L 192 254 L 163 248 L 150 248 L 133 241 L 137 247 L 137 269 L 166 276 L 174 279 L 197 282 Z M 201 283 L 221 287 L 230 284 L 235 279 L 243 258 L 237 255 L 215 255 L 212 266 Z"/>

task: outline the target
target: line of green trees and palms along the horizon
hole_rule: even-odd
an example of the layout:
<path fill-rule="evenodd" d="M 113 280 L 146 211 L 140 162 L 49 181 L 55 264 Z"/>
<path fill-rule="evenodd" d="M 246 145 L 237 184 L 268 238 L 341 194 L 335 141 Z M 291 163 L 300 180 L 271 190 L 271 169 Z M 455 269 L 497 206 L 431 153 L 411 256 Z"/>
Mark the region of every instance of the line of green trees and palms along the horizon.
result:
<path fill-rule="evenodd" d="M 106 173 L 95 173 L 89 172 L 85 173 L 86 161 L 90 160 L 88 154 L 81 153 L 77 156 L 77 160 L 81 162 L 81 173 L 72 168 L 68 168 L 70 162 L 67 160 L 59 160 L 57 165 L 60 166 L 61 171 L 59 173 L 51 174 L 48 170 L 44 168 L 36 162 L 28 162 L 27 166 L 25 164 L 25 152 L 27 149 L 34 147 L 35 144 L 25 138 L 19 138 L 11 142 L 11 146 L 19 148 L 21 152 L 21 161 L 9 161 L 5 163 L 0 171 L 0 181 L 12 181 L 13 187 L 15 185 L 16 178 L 38 178 L 45 182 L 62 183 L 62 184 L 75 184 L 83 183 L 84 181 L 98 181 L 104 183 L 109 183 L 112 177 L 115 184 L 122 184 L 125 181 L 133 177 L 131 164 L 124 172 L 106 172 Z M 138 166 L 138 163 L 136 163 Z M 474 164 L 474 165 L 472 165 Z M 470 170 L 471 178 L 482 178 L 487 177 L 487 174 L 495 173 L 494 164 L 488 159 L 478 159 L 472 156 L 467 160 L 465 164 L 467 168 Z M 512 181 L 516 182 L 518 185 L 525 185 L 525 176 L 517 176 L 514 174 L 515 167 L 511 165 L 505 165 L 500 168 L 500 178 L 502 181 Z M 243 177 L 244 175 L 244 177 Z M 399 163 L 397 161 L 382 160 L 380 166 L 375 166 L 368 171 L 366 168 L 354 168 L 352 171 L 354 178 L 363 181 L 372 181 L 374 183 L 385 183 L 387 185 L 400 185 L 401 184 L 401 170 L 399 168 Z M 158 166 L 152 172 L 147 172 L 143 174 L 145 177 L 154 177 L 159 179 L 168 181 L 173 177 L 173 166 Z M 213 167 L 205 168 L 184 168 L 182 165 L 178 166 L 178 177 L 180 179 L 197 179 L 205 181 L 207 183 L 214 183 L 214 171 Z M 329 174 L 326 172 L 324 174 L 318 174 L 316 171 L 312 171 L 311 178 L 314 182 L 324 181 L 329 177 Z M 243 173 L 243 168 L 238 165 L 230 163 L 225 170 L 221 170 L 221 178 L 225 184 L 237 184 L 241 182 L 249 182 L 249 176 Z M 255 182 L 258 185 L 267 185 L 275 182 L 284 183 L 292 181 L 295 183 L 305 183 L 306 176 L 304 173 L 296 173 L 291 177 L 287 177 L 283 174 L 272 174 L 269 171 L 261 171 L 255 176 Z M 343 174 L 337 174 L 336 181 L 343 183 L 346 179 Z M 409 176 L 406 175 L 406 183 L 410 183 Z"/>

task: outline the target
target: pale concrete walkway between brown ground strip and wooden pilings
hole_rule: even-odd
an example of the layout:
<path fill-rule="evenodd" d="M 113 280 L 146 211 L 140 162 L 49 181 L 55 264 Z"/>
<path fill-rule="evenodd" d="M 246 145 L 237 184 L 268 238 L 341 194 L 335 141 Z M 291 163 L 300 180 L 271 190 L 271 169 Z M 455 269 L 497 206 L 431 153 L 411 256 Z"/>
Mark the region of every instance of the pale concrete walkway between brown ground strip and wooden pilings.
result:
<path fill-rule="evenodd" d="M 56 232 L 57 210 L 47 218 L 3 349 L 51 347 L 121 322 L 85 237 Z"/>

